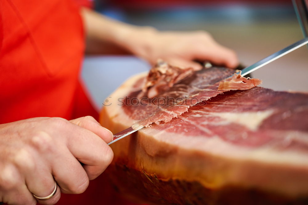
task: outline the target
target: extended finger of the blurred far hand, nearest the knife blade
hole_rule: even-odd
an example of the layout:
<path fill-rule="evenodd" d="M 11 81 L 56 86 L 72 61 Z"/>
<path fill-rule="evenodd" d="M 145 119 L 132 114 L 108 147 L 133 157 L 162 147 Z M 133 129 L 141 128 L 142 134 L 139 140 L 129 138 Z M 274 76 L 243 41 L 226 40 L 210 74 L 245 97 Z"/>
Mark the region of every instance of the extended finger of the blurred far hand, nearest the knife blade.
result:
<path fill-rule="evenodd" d="M 234 51 L 217 43 L 204 46 L 200 45 L 199 49 L 195 51 L 194 57 L 198 60 L 209 60 L 215 65 L 225 65 L 229 68 L 236 68 L 239 64 L 237 55 Z"/>

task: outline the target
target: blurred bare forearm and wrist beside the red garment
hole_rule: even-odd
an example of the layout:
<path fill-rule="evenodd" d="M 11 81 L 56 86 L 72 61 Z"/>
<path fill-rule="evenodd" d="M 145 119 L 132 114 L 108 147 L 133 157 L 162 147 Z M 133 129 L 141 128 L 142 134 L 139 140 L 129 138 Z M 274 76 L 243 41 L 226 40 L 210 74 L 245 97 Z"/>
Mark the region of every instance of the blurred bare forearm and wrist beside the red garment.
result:
<path fill-rule="evenodd" d="M 128 25 L 88 9 L 82 9 L 81 14 L 88 39 L 117 45 L 129 53 L 146 59 L 151 55 L 158 33 L 155 28 Z"/>

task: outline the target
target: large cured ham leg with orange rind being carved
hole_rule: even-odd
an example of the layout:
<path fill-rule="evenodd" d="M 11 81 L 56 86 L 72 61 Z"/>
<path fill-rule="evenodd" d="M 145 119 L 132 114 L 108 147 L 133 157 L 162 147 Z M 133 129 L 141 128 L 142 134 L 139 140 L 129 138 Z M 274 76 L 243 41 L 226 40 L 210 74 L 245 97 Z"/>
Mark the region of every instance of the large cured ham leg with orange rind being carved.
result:
<path fill-rule="evenodd" d="M 146 79 L 140 74 L 108 98 L 100 123 L 114 133 L 149 113 L 184 109 L 111 144 L 114 160 L 105 173 L 120 195 L 149 204 L 308 203 L 308 94 L 218 91 L 233 72 L 198 71 L 146 103 L 138 98 Z M 186 108 L 158 99 L 185 101 L 204 91 L 207 101 Z"/>

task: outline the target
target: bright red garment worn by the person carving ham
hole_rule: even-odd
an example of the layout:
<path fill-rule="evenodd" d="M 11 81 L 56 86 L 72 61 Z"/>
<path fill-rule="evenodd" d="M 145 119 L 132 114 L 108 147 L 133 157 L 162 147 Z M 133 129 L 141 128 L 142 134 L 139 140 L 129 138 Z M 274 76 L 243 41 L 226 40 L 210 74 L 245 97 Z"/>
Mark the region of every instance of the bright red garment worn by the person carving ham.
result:
<path fill-rule="evenodd" d="M 71 0 L 1 0 L 0 124 L 97 118 L 78 80 L 83 51 L 82 19 Z M 59 204 L 123 204 L 105 180 L 99 176 L 80 195 L 62 194 Z"/>

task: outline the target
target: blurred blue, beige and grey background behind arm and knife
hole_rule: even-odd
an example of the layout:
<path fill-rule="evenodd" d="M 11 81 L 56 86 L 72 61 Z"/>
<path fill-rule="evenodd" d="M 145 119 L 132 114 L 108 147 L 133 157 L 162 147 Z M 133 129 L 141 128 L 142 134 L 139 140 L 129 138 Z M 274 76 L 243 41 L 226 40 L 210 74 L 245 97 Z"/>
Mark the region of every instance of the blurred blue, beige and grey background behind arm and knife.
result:
<path fill-rule="evenodd" d="M 79 0 L 82 1 L 82 0 Z M 291 0 L 96 0 L 83 1 L 122 22 L 158 30 L 206 30 L 235 50 L 243 65 L 303 38 Z M 87 56 L 82 78 L 95 107 L 123 81 L 150 66 L 132 56 Z M 263 87 L 308 92 L 306 46 L 253 72 Z"/>

